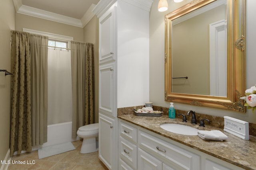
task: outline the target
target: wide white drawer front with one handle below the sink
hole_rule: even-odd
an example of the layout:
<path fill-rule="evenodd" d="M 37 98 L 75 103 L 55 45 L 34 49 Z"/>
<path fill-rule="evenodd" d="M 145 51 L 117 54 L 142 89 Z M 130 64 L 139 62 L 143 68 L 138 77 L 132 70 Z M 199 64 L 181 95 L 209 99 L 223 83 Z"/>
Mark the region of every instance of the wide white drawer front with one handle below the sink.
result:
<path fill-rule="evenodd" d="M 199 170 L 200 156 L 188 150 L 182 149 L 172 143 L 158 139 L 146 132 L 138 132 L 138 144 L 140 148 L 168 159 L 168 163 L 184 170 Z M 159 157 L 158 157 L 159 158 Z"/>

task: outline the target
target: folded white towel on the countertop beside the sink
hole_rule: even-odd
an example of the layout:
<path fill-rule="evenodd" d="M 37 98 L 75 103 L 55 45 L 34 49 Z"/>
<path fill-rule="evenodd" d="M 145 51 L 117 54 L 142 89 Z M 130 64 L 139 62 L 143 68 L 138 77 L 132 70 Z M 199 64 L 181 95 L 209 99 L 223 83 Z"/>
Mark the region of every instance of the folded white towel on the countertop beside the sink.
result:
<path fill-rule="evenodd" d="M 223 141 L 228 139 L 228 137 L 218 130 L 213 131 L 197 131 L 198 136 L 204 140 L 214 140 L 214 141 Z"/>

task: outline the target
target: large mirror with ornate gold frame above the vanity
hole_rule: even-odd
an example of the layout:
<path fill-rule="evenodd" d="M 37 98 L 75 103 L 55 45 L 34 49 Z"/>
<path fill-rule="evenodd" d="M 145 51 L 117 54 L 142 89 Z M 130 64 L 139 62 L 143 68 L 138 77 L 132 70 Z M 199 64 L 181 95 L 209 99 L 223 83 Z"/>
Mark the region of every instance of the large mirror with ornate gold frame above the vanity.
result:
<path fill-rule="evenodd" d="M 245 0 L 192 0 L 166 14 L 164 57 L 165 101 L 245 112 Z"/>

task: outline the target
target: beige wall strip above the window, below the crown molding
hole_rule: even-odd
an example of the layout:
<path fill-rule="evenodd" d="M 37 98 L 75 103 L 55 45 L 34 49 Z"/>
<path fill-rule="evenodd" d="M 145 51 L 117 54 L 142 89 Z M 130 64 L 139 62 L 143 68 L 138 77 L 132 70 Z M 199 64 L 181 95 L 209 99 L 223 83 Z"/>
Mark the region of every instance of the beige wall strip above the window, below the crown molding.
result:
<path fill-rule="evenodd" d="M 22 31 L 23 28 L 66 35 L 74 37 L 74 41 L 84 41 L 83 28 L 16 13 L 16 30 Z"/>

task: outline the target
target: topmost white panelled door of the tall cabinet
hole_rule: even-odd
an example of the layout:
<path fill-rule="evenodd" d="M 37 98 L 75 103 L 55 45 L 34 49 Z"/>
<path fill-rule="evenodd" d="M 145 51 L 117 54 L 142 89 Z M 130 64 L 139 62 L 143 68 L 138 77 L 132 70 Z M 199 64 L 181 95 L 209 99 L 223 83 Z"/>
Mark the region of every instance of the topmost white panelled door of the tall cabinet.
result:
<path fill-rule="evenodd" d="M 115 59 L 116 42 L 116 6 L 99 18 L 99 62 L 105 63 Z"/>

